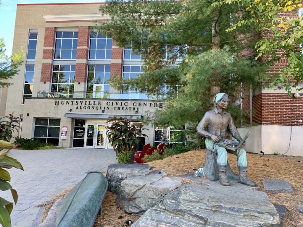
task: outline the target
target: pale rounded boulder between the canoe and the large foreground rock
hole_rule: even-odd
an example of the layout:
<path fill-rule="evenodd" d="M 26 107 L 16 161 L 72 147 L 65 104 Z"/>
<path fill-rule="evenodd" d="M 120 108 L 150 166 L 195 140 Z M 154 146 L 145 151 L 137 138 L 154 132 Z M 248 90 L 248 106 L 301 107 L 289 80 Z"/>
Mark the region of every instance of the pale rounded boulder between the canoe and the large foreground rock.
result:
<path fill-rule="evenodd" d="M 155 170 L 145 176 L 128 177 L 117 190 L 116 203 L 128 213 L 143 214 L 181 186 L 181 179 L 165 176 L 164 171 Z"/>

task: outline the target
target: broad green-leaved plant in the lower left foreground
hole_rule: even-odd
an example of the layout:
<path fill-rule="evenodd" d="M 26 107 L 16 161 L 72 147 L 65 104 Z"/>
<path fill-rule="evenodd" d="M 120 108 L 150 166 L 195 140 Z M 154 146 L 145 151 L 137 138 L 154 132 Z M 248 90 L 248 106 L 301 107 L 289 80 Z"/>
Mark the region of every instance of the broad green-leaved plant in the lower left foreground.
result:
<path fill-rule="evenodd" d="M 4 140 L 0 140 L 0 150 L 2 149 L 12 149 L 14 146 Z M 11 169 L 15 167 L 16 169 L 22 169 L 23 167 L 18 160 L 5 155 L 5 152 L 2 152 L 0 155 L 0 190 L 6 191 L 10 190 L 15 204 L 18 201 L 18 194 L 15 189 L 10 185 L 11 176 L 5 169 Z M 3 227 L 11 227 L 11 217 L 10 214 L 13 210 L 13 202 L 9 202 L 6 199 L 0 197 L 0 224 Z"/>

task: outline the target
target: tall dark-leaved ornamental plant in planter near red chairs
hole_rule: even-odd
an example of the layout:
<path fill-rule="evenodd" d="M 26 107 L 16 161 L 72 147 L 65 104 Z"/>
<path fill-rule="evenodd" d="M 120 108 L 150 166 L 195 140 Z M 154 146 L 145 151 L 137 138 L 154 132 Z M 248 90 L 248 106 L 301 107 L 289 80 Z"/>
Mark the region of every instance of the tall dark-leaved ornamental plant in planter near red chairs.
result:
<path fill-rule="evenodd" d="M 108 122 L 112 122 L 111 126 L 107 126 L 107 137 L 109 144 L 114 147 L 117 154 L 118 163 L 134 163 L 135 151 L 138 150 L 140 137 L 147 135 L 142 134 L 143 125 L 130 125 L 132 117 L 113 117 Z"/>

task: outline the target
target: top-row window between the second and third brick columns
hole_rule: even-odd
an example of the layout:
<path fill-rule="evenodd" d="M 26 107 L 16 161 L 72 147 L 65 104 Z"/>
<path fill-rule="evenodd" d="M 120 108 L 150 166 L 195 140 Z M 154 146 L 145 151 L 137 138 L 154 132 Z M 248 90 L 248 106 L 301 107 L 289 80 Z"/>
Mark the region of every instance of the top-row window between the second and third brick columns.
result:
<path fill-rule="evenodd" d="M 112 38 L 107 38 L 99 32 L 91 32 L 89 41 L 89 59 L 112 58 Z"/>

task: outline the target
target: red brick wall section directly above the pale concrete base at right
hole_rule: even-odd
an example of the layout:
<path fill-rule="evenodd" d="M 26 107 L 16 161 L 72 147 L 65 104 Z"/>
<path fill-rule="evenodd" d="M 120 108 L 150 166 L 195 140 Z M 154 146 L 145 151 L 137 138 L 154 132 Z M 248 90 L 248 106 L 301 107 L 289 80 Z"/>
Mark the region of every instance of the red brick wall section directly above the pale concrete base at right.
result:
<path fill-rule="evenodd" d="M 303 126 L 303 97 L 284 93 L 262 93 L 262 124 Z"/>

